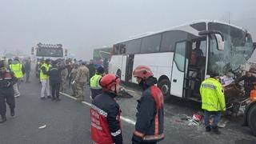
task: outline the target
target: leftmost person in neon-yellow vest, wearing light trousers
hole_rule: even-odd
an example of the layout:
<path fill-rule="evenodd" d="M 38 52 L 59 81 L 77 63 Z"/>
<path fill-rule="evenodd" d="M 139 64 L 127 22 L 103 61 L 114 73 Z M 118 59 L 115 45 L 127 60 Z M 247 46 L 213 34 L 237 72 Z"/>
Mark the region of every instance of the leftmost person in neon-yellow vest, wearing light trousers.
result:
<path fill-rule="evenodd" d="M 18 58 L 14 58 L 14 62 L 10 64 L 10 70 L 14 72 L 14 76 L 18 79 L 18 82 L 14 84 L 14 97 L 17 98 L 21 94 L 19 92 L 20 82 L 22 82 L 23 75 L 25 74 L 24 66 L 19 62 Z"/>

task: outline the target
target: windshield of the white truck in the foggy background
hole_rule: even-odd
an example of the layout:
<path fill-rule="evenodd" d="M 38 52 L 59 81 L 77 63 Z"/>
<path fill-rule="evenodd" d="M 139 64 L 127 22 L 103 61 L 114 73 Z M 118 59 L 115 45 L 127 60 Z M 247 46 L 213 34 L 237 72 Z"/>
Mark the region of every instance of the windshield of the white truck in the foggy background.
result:
<path fill-rule="evenodd" d="M 36 56 L 38 57 L 63 57 L 62 48 L 38 48 Z"/>

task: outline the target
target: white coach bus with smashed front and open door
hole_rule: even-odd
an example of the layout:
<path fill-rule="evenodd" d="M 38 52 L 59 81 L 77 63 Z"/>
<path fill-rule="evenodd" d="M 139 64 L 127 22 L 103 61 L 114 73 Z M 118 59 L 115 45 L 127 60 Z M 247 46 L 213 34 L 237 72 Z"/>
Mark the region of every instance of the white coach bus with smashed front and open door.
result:
<path fill-rule="evenodd" d="M 115 43 L 109 72 L 123 82 L 136 83 L 134 68 L 150 66 L 166 97 L 200 101 L 199 86 L 205 78 L 237 70 L 253 50 L 250 34 L 241 27 L 194 22 Z"/>

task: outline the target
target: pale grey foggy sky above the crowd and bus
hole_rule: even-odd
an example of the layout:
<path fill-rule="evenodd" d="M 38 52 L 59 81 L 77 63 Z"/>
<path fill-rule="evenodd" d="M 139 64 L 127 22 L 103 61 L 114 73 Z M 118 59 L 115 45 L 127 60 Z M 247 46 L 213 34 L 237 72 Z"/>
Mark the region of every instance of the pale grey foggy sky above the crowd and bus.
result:
<path fill-rule="evenodd" d="M 202 19 L 230 22 L 256 38 L 255 0 L 0 0 L 0 55 L 62 43 L 77 58 L 137 34 Z"/>

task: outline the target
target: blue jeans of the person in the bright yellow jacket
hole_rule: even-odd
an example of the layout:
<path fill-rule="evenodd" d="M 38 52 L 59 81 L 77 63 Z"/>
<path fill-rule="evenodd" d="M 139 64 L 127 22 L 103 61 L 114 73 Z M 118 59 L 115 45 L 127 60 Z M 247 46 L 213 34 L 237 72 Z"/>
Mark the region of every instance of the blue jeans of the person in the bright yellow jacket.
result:
<path fill-rule="evenodd" d="M 211 126 L 218 126 L 218 121 L 220 120 L 221 116 L 222 116 L 222 112 L 221 111 L 205 111 L 205 125 L 206 126 L 210 126 L 210 116 L 214 117 L 214 123 Z"/>

